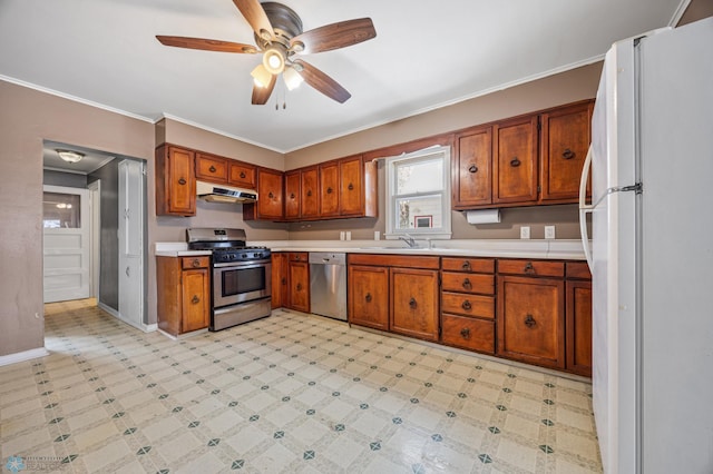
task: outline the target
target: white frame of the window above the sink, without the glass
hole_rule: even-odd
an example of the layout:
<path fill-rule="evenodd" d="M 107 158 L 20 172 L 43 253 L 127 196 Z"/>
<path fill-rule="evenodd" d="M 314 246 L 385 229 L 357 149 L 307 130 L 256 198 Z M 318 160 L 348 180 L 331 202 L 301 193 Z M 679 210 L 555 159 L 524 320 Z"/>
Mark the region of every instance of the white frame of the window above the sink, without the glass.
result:
<path fill-rule="evenodd" d="M 404 162 L 418 162 L 418 161 L 427 161 L 432 159 L 434 155 L 441 155 L 442 166 L 443 166 L 443 176 L 442 176 L 442 187 L 440 191 L 429 191 L 423 194 L 409 194 L 409 195 L 394 195 L 397 189 L 397 166 L 403 165 Z M 392 156 L 385 158 L 385 233 L 384 237 L 387 239 L 398 239 L 399 237 L 404 237 L 407 234 L 412 236 L 413 238 L 421 239 L 450 239 L 452 236 L 451 231 L 451 190 L 450 190 L 450 157 L 451 157 L 451 147 L 450 145 L 434 145 L 432 147 L 428 147 L 418 151 L 412 151 L 408 154 L 402 154 L 399 156 Z M 424 228 L 424 227 L 416 227 L 411 229 L 399 229 L 395 223 L 397 213 L 395 213 L 395 201 L 398 198 L 402 197 L 419 197 L 419 196 L 431 196 L 441 194 L 441 223 L 442 226 L 439 228 Z"/>

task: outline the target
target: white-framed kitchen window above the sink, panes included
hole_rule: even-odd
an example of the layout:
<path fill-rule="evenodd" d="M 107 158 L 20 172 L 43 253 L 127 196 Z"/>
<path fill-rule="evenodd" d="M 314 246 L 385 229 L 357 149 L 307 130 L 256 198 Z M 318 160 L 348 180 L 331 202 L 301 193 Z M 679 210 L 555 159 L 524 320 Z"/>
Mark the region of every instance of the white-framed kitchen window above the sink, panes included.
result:
<path fill-rule="evenodd" d="M 387 158 L 387 237 L 448 239 L 450 147 Z"/>

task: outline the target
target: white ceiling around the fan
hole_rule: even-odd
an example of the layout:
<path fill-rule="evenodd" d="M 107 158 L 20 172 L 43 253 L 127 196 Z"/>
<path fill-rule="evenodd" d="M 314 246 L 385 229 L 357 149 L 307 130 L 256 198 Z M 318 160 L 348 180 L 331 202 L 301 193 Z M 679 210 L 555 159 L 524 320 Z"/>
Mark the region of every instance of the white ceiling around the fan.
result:
<path fill-rule="evenodd" d="M 590 63 L 616 40 L 674 24 L 688 1 L 282 0 L 305 31 L 370 17 L 377 38 L 303 56 L 352 93 L 345 103 L 279 81 L 252 106 L 260 56 L 155 38 L 254 45 L 231 0 L 0 0 L 0 79 L 286 152 Z"/>

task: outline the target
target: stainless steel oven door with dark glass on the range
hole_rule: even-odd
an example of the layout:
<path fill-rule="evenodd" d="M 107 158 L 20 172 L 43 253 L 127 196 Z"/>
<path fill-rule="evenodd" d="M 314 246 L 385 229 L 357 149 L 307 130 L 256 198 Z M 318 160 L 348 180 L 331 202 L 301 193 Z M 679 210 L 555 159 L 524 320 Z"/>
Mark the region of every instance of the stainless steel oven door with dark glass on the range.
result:
<path fill-rule="evenodd" d="M 213 266 L 213 306 L 215 308 L 268 296 L 272 296 L 270 259 Z"/>

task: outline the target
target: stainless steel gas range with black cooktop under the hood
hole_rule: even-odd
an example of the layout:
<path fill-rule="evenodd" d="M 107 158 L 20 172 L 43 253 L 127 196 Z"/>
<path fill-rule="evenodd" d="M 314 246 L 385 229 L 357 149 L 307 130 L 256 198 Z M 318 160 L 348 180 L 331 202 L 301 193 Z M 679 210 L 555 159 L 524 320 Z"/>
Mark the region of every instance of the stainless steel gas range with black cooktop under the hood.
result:
<path fill-rule="evenodd" d="M 246 246 L 245 230 L 189 228 L 188 249 L 211 250 L 211 330 L 271 314 L 272 264 L 266 247 Z"/>

